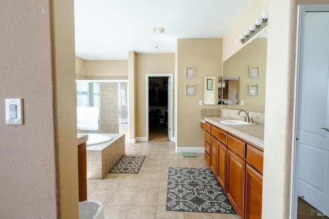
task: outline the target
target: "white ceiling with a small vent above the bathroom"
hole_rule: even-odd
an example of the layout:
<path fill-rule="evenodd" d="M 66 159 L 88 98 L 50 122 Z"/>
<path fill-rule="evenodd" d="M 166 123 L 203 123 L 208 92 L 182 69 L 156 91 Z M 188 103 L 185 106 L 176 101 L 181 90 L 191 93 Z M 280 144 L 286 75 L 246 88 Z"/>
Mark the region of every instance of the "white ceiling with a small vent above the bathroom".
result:
<path fill-rule="evenodd" d="M 127 60 L 175 53 L 177 39 L 222 38 L 252 0 L 75 0 L 76 55 Z M 152 27 L 164 27 L 153 33 Z M 155 48 L 161 46 L 161 48 Z"/>

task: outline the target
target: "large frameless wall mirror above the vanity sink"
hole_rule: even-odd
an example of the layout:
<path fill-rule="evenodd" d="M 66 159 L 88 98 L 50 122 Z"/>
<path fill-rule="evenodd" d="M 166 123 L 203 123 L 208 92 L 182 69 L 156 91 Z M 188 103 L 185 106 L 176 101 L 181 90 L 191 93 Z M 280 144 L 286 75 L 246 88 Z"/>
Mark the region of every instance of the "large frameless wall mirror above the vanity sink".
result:
<path fill-rule="evenodd" d="M 266 54 L 267 30 L 223 63 L 223 81 L 237 78 L 235 99 L 231 95 L 231 100 L 231 85 L 227 83 L 228 97 L 223 93 L 224 108 L 265 112 Z"/>

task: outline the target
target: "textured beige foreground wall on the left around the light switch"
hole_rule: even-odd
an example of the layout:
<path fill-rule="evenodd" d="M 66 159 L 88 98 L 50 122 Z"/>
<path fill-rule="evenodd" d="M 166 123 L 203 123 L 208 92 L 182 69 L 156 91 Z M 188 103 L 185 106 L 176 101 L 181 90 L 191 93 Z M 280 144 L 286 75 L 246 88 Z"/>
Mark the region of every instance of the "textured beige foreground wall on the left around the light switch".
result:
<path fill-rule="evenodd" d="M 0 117 L 1 218 L 78 217 L 73 14 L 73 1 L 0 2 L 0 114 L 24 99 L 24 125 Z"/>

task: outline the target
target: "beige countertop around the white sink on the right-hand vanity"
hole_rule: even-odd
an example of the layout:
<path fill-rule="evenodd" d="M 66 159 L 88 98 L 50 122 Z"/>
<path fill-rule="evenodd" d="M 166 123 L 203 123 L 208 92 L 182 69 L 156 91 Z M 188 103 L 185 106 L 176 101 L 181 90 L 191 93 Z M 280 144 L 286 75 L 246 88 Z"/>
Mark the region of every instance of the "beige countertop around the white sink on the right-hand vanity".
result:
<path fill-rule="evenodd" d="M 261 148 L 264 148 L 264 124 L 256 123 L 255 125 L 228 125 L 220 123 L 221 120 L 225 119 L 239 120 L 231 117 L 209 117 L 205 118 L 205 121 L 255 145 L 258 145 Z"/>

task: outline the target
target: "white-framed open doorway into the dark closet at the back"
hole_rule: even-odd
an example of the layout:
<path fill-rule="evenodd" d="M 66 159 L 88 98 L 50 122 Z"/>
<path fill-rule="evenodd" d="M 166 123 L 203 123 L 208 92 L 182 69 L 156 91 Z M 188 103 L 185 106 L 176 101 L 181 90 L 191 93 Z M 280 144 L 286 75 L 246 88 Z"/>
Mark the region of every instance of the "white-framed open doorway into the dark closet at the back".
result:
<path fill-rule="evenodd" d="M 146 85 L 147 140 L 171 140 L 172 74 L 148 74 Z"/>

